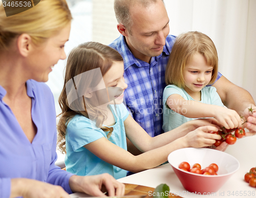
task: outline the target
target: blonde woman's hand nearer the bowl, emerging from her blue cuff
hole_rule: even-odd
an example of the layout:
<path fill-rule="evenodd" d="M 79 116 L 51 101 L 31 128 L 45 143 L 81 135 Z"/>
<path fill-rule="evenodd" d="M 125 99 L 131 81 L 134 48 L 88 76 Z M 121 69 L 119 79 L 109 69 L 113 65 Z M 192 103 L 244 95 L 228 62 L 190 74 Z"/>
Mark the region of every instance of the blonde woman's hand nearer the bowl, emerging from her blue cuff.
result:
<path fill-rule="evenodd" d="M 73 192 L 84 192 L 92 196 L 106 196 L 103 192 L 108 192 L 109 196 L 122 196 L 125 190 L 124 184 L 116 181 L 109 174 L 95 176 L 74 175 L 70 177 L 69 185 Z"/>

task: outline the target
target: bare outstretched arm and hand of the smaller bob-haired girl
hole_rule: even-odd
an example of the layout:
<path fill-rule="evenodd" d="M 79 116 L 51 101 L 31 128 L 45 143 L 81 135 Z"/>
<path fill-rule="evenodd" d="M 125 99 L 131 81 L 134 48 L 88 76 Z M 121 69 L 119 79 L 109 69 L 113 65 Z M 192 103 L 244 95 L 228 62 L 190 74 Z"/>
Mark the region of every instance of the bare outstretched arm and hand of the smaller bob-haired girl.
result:
<path fill-rule="evenodd" d="M 185 117 L 215 117 L 226 129 L 242 126 L 242 120 L 236 111 L 217 105 L 185 100 L 179 94 L 170 95 L 166 100 L 166 105 L 176 113 Z"/>

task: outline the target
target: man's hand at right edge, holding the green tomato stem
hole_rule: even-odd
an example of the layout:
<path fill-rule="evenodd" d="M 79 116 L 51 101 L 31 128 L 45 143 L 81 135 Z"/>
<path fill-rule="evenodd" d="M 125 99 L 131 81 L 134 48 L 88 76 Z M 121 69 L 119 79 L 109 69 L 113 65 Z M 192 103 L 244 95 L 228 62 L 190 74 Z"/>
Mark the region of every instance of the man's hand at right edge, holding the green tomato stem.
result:
<path fill-rule="evenodd" d="M 256 107 L 254 105 L 250 105 L 244 110 L 244 119 L 247 120 L 245 128 L 249 130 L 245 136 L 256 135 Z"/>

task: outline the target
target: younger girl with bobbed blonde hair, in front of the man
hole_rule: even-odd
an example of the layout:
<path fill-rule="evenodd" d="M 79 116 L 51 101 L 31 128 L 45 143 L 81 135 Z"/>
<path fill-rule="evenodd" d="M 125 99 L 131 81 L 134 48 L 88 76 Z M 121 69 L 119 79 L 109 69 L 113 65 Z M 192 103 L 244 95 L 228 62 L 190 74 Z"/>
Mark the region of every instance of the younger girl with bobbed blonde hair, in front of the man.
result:
<path fill-rule="evenodd" d="M 165 71 L 164 132 L 200 117 L 215 117 L 226 129 L 241 127 L 238 113 L 225 108 L 216 88 L 207 86 L 217 76 L 218 55 L 212 40 L 201 32 L 178 36 Z"/>

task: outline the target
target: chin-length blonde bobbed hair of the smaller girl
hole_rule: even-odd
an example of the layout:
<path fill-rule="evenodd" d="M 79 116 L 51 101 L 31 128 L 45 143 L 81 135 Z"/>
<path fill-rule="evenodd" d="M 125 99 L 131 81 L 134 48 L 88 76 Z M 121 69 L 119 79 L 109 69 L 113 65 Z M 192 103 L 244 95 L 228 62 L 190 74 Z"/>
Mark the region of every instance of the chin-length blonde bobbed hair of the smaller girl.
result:
<path fill-rule="evenodd" d="M 165 70 L 166 85 L 185 87 L 183 71 L 196 53 L 203 55 L 207 65 L 214 67 L 209 85 L 215 82 L 218 75 L 218 54 L 215 44 L 207 35 L 196 31 L 181 34 L 176 38 Z"/>

